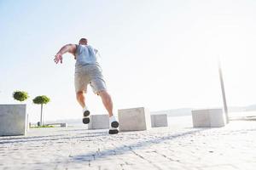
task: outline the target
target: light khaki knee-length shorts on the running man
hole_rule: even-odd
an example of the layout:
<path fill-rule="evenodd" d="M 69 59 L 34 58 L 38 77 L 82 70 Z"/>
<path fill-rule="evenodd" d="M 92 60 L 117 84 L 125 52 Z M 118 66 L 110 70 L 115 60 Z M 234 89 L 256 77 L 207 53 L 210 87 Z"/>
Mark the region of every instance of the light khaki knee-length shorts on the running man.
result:
<path fill-rule="evenodd" d="M 106 82 L 102 76 L 102 68 L 98 65 L 84 65 L 75 68 L 74 84 L 76 93 L 87 92 L 87 86 L 90 84 L 93 92 L 98 94 L 106 90 Z"/>

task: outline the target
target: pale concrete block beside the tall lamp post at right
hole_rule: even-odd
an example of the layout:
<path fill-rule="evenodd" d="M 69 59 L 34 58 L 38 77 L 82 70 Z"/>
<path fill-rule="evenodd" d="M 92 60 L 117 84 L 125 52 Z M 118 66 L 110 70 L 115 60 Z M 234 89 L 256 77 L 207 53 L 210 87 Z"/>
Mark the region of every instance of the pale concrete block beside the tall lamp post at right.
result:
<path fill-rule="evenodd" d="M 222 109 L 192 111 L 193 127 L 224 127 L 226 119 Z"/>

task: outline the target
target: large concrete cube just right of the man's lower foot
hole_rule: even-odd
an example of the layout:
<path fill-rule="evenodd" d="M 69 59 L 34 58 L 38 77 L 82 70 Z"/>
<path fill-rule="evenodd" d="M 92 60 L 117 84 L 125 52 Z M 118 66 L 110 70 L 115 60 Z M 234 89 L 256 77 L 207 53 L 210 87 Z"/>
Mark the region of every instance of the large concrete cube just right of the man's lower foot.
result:
<path fill-rule="evenodd" d="M 139 131 L 151 128 L 150 112 L 144 107 L 119 110 L 119 131 Z"/>

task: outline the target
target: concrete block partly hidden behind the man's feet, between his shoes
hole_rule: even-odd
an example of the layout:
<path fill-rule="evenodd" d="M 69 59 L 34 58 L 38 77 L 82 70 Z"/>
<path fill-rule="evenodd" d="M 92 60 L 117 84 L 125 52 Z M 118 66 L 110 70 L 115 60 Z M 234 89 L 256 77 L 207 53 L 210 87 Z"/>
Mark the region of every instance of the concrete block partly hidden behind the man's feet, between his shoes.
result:
<path fill-rule="evenodd" d="M 90 115 L 88 129 L 106 129 L 109 128 L 109 117 L 105 115 Z"/>

